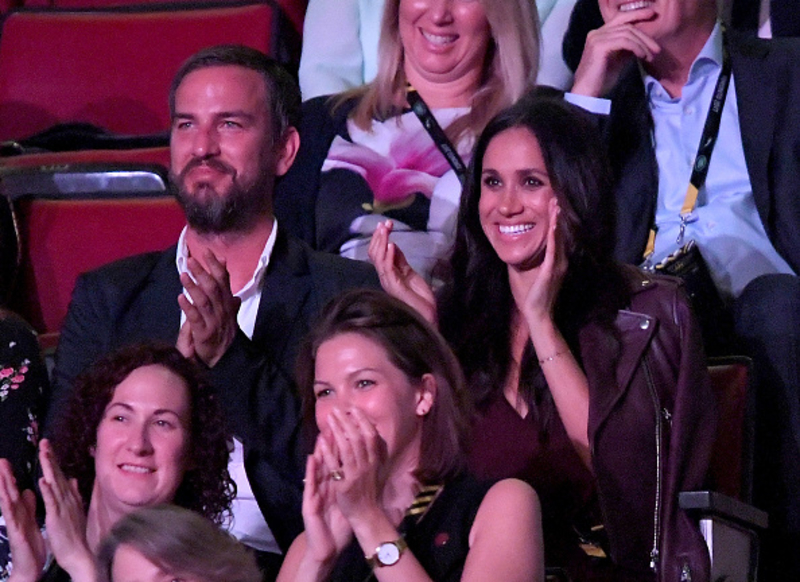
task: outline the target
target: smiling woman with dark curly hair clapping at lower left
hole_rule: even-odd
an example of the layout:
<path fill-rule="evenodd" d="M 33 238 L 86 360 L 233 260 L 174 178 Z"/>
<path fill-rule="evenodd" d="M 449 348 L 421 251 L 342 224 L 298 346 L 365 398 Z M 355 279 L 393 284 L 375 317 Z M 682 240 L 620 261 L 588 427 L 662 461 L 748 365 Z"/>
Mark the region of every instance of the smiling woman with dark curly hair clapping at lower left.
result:
<path fill-rule="evenodd" d="M 41 577 L 45 545 L 34 496 L 20 495 L 0 463 L 12 582 L 91 582 L 100 540 L 131 511 L 174 502 L 221 523 L 233 496 L 219 407 L 195 365 L 169 346 L 125 348 L 79 377 L 39 461 L 57 564 Z"/>

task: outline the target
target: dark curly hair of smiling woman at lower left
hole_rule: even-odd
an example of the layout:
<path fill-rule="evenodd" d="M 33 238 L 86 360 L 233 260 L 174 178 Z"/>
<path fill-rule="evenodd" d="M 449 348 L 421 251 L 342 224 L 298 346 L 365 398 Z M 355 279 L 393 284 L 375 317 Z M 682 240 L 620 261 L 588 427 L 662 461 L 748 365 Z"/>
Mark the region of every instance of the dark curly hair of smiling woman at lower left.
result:
<path fill-rule="evenodd" d="M 131 372 L 153 365 L 163 366 L 183 380 L 191 406 L 187 468 L 173 503 L 222 523 L 236 492 L 228 474 L 228 433 L 219 403 L 203 373 L 173 346 L 145 343 L 125 347 L 78 376 L 52 438 L 56 457 L 64 474 L 77 479 L 88 505 L 95 479 L 92 451 L 106 407 L 117 386 Z"/>

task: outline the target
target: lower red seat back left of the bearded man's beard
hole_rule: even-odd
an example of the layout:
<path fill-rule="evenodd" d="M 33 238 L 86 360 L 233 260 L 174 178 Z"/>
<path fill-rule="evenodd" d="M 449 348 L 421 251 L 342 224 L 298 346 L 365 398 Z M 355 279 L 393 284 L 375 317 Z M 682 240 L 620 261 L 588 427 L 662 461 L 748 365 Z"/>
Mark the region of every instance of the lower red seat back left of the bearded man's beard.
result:
<path fill-rule="evenodd" d="M 40 332 L 61 329 L 82 272 L 175 244 L 184 215 L 171 197 L 21 200 L 22 272 L 14 307 Z"/>

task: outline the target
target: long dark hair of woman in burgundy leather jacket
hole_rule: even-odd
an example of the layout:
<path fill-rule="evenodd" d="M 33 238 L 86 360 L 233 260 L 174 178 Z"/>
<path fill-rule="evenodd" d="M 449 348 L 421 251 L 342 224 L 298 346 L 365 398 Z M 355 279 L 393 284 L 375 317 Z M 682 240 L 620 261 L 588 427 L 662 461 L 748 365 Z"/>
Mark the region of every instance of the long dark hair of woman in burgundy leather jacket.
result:
<path fill-rule="evenodd" d="M 560 92 L 537 88 L 495 116 L 476 143 L 461 196 L 451 280 L 438 296 L 439 329 L 458 355 L 478 408 L 506 384 L 515 309 L 508 267 L 480 223 L 483 158 L 498 134 L 520 127 L 536 137 L 561 209 L 559 232 L 568 267 L 554 317 L 579 361 L 581 327 L 596 321 L 613 332 L 616 313 L 628 304 L 630 295 L 612 259 L 612 182 L 598 129 Z M 531 412 L 541 415 L 546 433 L 554 405 L 530 342 L 521 363 L 520 394 Z"/>

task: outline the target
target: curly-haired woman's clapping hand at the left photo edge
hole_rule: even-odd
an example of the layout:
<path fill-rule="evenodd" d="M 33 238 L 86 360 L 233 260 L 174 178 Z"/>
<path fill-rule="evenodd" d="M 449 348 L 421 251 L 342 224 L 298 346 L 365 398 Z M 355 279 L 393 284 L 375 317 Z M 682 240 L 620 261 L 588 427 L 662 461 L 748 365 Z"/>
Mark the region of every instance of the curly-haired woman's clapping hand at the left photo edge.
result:
<path fill-rule="evenodd" d="M 0 459 L 0 511 L 6 521 L 8 544 L 14 564 L 9 582 L 34 582 L 42 574 L 47 547 L 36 523 L 36 496 L 17 489 L 11 463 Z"/>

